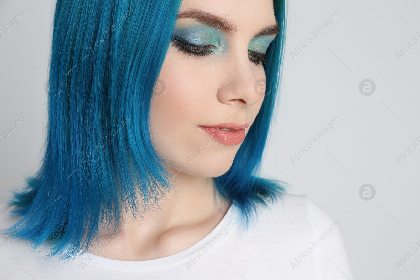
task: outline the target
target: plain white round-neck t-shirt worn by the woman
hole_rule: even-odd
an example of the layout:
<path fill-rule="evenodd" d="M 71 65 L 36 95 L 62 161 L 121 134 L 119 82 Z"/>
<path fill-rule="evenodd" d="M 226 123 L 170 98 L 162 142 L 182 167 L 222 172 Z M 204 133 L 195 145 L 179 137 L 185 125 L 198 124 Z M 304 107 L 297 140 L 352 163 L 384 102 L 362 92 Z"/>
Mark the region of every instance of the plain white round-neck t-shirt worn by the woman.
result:
<path fill-rule="evenodd" d="M 17 221 L 8 214 L 10 209 L 0 209 L 0 229 Z M 255 224 L 243 231 L 238 220 L 241 213 L 230 207 L 198 243 L 147 261 L 86 254 L 63 264 L 45 260 L 45 252 L 31 254 L 24 247 L 26 241 L 2 236 L 0 279 L 352 280 L 339 221 L 306 196 L 285 194 L 259 211 Z"/>

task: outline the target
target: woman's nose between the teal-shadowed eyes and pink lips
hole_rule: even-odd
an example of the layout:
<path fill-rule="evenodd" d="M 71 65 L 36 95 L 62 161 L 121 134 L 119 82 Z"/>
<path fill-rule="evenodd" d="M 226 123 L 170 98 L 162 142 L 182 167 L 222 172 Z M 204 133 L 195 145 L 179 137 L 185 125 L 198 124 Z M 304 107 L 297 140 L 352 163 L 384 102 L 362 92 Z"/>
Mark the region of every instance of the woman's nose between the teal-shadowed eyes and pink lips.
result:
<path fill-rule="evenodd" d="M 265 73 L 252 66 L 248 57 L 246 61 L 231 57 L 224 69 L 217 91 L 220 102 L 243 108 L 262 101 L 264 92 L 261 92 L 261 81 L 265 81 Z"/>

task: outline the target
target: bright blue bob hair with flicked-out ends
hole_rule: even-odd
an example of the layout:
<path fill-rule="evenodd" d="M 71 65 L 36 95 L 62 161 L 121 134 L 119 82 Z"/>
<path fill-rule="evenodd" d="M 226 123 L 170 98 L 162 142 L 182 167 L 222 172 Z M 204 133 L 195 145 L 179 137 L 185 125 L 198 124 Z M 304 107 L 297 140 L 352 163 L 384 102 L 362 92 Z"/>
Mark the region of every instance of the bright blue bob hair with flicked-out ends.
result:
<path fill-rule="evenodd" d="M 152 146 L 150 101 L 166 56 L 178 0 L 58 0 L 48 81 L 48 123 L 41 166 L 8 202 L 20 220 L 3 230 L 47 257 L 68 260 L 92 249 L 121 216 L 144 215 L 171 191 L 165 162 Z M 241 210 L 280 199 L 283 183 L 258 177 L 281 81 L 286 31 L 283 0 L 274 0 L 280 35 L 264 65 L 270 93 L 216 192 Z M 22 226 L 23 225 L 23 226 Z M 19 230 L 16 228 L 19 227 Z"/>

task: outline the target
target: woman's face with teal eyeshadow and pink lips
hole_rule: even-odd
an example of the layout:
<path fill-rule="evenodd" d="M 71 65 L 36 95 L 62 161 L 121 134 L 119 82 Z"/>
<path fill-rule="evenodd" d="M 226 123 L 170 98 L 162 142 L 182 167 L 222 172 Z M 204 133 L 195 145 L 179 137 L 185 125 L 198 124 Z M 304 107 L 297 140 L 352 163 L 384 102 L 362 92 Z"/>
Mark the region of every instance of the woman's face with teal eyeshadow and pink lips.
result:
<path fill-rule="evenodd" d="M 277 33 L 273 0 L 182 1 L 150 113 L 168 165 L 200 177 L 231 167 L 261 108 L 262 61 Z"/>

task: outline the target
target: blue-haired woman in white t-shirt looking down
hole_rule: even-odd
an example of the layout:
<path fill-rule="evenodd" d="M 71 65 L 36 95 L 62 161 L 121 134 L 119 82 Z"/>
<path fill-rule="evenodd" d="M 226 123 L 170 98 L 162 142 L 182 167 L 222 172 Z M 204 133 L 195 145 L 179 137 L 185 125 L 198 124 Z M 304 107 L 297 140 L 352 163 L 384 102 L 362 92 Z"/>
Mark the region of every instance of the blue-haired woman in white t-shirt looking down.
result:
<path fill-rule="evenodd" d="M 282 0 L 58 0 L 5 279 L 351 279 L 339 221 L 258 177 L 285 20 Z"/>

